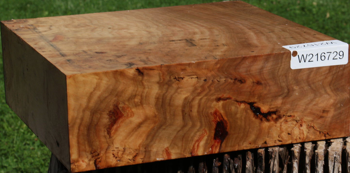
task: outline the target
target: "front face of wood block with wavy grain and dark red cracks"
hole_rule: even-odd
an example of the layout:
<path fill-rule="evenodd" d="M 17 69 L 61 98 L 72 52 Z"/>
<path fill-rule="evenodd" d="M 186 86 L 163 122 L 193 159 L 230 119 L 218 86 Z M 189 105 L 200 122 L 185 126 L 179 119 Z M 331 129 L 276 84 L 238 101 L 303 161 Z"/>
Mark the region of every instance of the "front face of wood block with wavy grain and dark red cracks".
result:
<path fill-rule="evenodd" d="M 349 136 L 349 70 L 281 52 L 69 75 L 71 171 Z"/>

